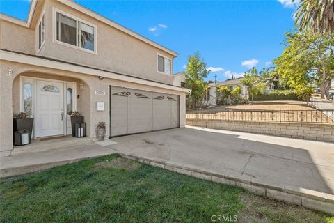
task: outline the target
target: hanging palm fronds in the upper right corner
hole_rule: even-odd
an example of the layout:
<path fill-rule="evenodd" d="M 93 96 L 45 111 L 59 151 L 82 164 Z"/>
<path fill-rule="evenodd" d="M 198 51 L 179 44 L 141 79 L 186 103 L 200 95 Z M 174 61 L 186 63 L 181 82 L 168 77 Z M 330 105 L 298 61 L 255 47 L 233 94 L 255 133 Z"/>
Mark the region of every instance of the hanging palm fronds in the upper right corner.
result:
<path fill-rule="evenodd" d="M 300 0 L 294 17 L 300 30 L 334 33 L 334 0 Z"/>

